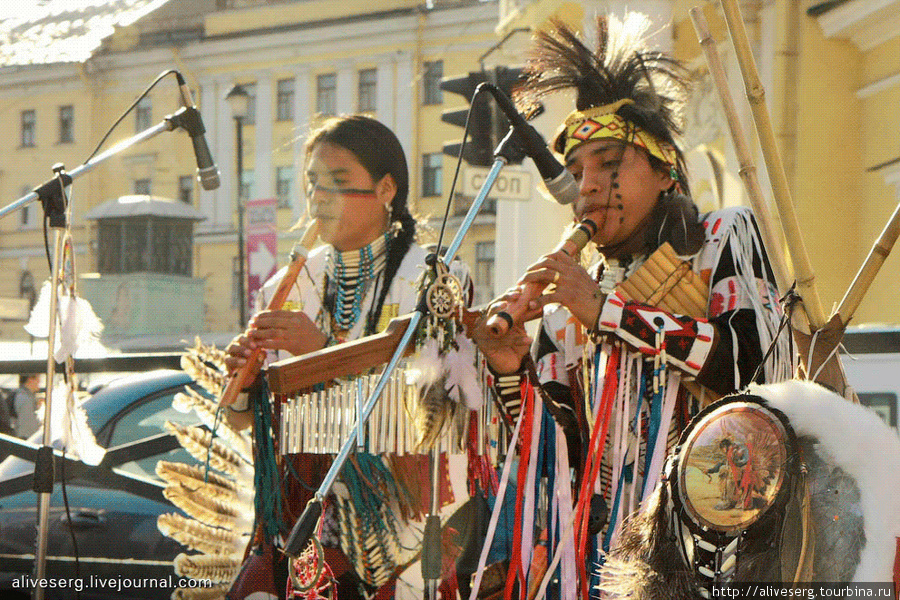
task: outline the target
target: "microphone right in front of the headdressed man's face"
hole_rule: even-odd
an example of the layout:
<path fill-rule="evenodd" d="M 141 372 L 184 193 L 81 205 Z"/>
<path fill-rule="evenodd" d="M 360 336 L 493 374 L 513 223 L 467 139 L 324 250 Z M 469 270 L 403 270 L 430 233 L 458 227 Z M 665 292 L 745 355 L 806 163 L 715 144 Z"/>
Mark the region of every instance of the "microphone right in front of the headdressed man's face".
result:
<path fill-rule="evenodd" d="M 544 178 L 544 187 L 547 188 L 550 195 L 560 204 L 575 202 L 578 199 L 578 184 L 575 182 L 575 177 L 556 160 L 543 136 L 522 117 L 509 96 L 504 94 L 500 88 L 492 83 L 480 85 L 491 92 L 500 110 L 509 119 L 512 125 L 510 134 L 515 132 L 516 141 L 525 154 L 534 161 L 534 166 Z"/>

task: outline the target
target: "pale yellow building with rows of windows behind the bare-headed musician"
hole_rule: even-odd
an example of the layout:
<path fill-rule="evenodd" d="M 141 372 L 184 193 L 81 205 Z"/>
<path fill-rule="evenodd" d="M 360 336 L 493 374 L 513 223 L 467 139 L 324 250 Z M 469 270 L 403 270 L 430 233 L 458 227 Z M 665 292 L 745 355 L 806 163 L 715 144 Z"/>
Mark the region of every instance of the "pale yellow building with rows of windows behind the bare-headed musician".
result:
<path fill-rule="evenodd" d="M 440 115 L 450 106 L 465 105 L 462 98 L 441 93 L 440 79 L 480 68 L 479 57 L 497 42 L 495 2 L 151 4 L 156 8 L 120 23 L 82 60 L 54 62 L 52 56 L 36 53 L 34 62 L 16 56 L 8 62 L 24 64 L 0 69 L 0 120 L 9 132 L 0 140 L 6 157 L 0 192 L 10 202 L 49 179 L 54 163 L 69 170 L 82 164 L 161 72 L 177 69 L 193 90 L 221 187 L 200 188 L 183 131 L 136 144 L 71 186 L 78 285 L 106 323 L 104 340 L 110 345 L 162 349 L 177 347 L 195 334 L 224 341 L 240 331 L 239 187 L 245 199 L 277 198 L 278 255 L 283 262 L 296 241 L 287 230 L 306 209 L 303 140 L 322 115 L 365 112 L 390 126 L 407 153 L 414 214 L 432 230 L 437 228 L 455 166 L 442 147 L 462 133 L 443 123 Z M 48 32 L 51 26 L 62 29 L 60 39 L 52 43 L 63 45 L 65 27 L 84 16 L 64 12 L 56 15 L 55 23 L 47 17 L 37 25 Z M 225 100 L 235 84 L 252 96 L 252 114 L 242 136 L 242 186 L 236 180 L 236 123 Z M 101 152 L 162 122 L 179 107 L 175 80 L 166 76 L 124 118 Z M 160 275 L 133 267 L 123 273 L 103 272 L 108 240 L 102 239 L 99 221 L 85 215 L 96 215 L 98 207 L 103 213 L 105 203 L 131 194 L 184 201 L 196 211 L 188 274 Z M 455 204 L 451 214 L 458 224 L 465 200 Z M 37 203 L 0 220 L 0 267 L 7 274 L 0 282 L 0 298 L 8 309 L 0 323 L 4 339 L 27 338 L 23 321 L 13 314 L 21 304 L 16 299 L 33 296 L 30 289 L 39 289 L 49 273 L 41 221 Z M 424 241 L 429 241 L 427 229 Z M 479 217 L 460 250 L 460 257 L 476 271 L 482 299 L 494 292 L 493 231 L 494 215 Z M 49 239 L 52 248 L 52 232 Z M 154 259 L 157 262 L 171 260 L 164 242 L 142 243 L 147 247 L 134 248 L 123 239 L 126 257 L 119 258 L 127 262 L 129 254 L 144 252 L 162 256 Z"/>

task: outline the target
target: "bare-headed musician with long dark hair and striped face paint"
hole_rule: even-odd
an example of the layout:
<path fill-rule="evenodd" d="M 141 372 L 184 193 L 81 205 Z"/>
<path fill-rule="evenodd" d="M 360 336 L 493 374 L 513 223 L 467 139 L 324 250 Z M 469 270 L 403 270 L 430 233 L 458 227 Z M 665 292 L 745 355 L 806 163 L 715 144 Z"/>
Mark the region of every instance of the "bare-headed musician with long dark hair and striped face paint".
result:
<path fill-rule="evenodd" d="M 310 253 L 284 307 L 258 312 L 247 331 L 228 346 L 227 365 L 231 372 L 246 363 L 254 348 L 264 349 L 270 360 L 301 355 L 379 332 L 390 319 L 415 308 L 416 281 L 425 264 L 426 252 L 414 241 L 415 220 L 407 206 L 407 163 L 396 136 L 366 116 L 333 118 L 310 135 L 306 151 L 310 216 L 318 220 L 319 235 L 325 245 Z M 455 275 L 466 280 L 467 274 L 460 271 L 458 262 L 454 263 L 454 269 Z M 266 305 L 283 272 L 284 269 L 264 285 L 260 306 Z M 257 370 L 260 367 L 261 364 L 255 365 Z M 232 423 L 249 426 L 253 422 L 252 402 L 248 406 L 245 401 L 242 406 L 239 401 L 230 408 Z M 394 475 L 396 480 L 390 485 L 402 487 L 404 478 L 418 477 L 423 458 L 427 460 L 418 456 L 391 460 L 390 466 L 395 471 L 410 471 L 397 473 L 387 469 L 377 456 L 358 455 L 342 471 L 342 482 L 346 484 L 342 489 L 354 498 L 371 493 L 353 489 L 345 477 L 347 469 L 355 470 L 357 476 L 352 479 L 357 483 L 377 484 Z M 255 591 L 283 597 L 286 561 L 277 549 L 272 552 L 273 542 L 277 545 L 278 535 L 284 535 L 285 528 L 289 529 L 299 516 L 312 490 L 320 485 L 332 457 L 293 454 L 277 460 L 283 482 L 281 527 L 266 527 L 257 516 L 255 543 L 257 550 L 266 552 L 261 556 L 258 552 L 248 555 L 229 593 L 232 600 L 243 599 Z M 371 469 L 377 473 L 370 472 Z M 334 503 L 326 504 L 330 507 L 326 509 L 322 539 L 326 561 L 338 579 L 340 597 L 363 597 L 358 595 L 376 589 L 379 597 L 389 597 L 393 579 L 386 585 L 382 585 L 383 581 L 371 581 L 357 564 L 365 562 L 377 567 L 377 557 L 360 556 L 356 549 L 344 548 L 343 553 L 338 550 L 338 533 L 345 533 L 339 530 L 347 526 L 349 519 L 338 514 Z M 357 516 L 365 512 L 360 506 L 354 510 Z M 384 540 L 381 541 L 389 546 L 395 544 L 397 530 L 405 525 L 397 515 L 396 523 L 382 526 Z M 381 556 L 390 555 L 388 548 L 377 550 Z M 386 566 L 392 571 L 395 565 Z"/>

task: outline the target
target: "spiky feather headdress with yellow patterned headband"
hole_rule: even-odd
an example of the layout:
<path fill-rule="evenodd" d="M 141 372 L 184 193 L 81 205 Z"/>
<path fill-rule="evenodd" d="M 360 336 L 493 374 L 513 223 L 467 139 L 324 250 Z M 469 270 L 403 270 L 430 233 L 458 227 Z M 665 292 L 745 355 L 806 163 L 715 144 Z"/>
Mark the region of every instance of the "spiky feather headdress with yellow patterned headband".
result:
<path fill-rule="evenodd" d="M 556 152 L 567 156 L 584 142 L 617 139 L 645 150 L 654 168 L 668 169 L 675 184 L 654 208 L 646 250 L 668 241 L 678 254 L 688 255 L 699 250 L 704 239 L 677 144 L 688 71 L 676 59 L 647 47 L 648 25 L 639 13 L 621 21 L 601 16 L 596 50 L 591 50 L 569 26 L 551 21 L 536 34 L 516 103 L 531 115 L 542 98 L 573 91 L 575 110 L 552 143 Z"/>

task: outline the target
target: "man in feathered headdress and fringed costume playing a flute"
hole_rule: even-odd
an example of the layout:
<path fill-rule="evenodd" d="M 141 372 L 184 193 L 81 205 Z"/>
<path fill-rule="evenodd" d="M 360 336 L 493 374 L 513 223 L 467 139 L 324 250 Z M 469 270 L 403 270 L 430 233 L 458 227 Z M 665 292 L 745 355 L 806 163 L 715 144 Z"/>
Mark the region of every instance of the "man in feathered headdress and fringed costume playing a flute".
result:
<path fill-rule="evenodd" d="M 502 336 L 486 327 L 476 334 L 504 404 L 516 413 L 521 405 L 532 420 L 523 431 L 542 427 L 543 405 L 565 434 L 553 427 L 540 434 L 539 447 L 557 448 L 555 469 L 543 476 L 555 485 L 550 506 L 558 512 L 546 519 L 526 514 L 521 524 L 526 532 L 529 524 L 550 523 L 548 539 L 560 540 L 566 532 L 559 524 L 575 522 L 575 548 L 558 546 L 562 575 L 551 585 L 561 587 L 548 597 L 594 588 L 591 565 L 616 545 L 622 520 L 653 490 L 663 457 L 702 404 L 747 385 L 760 365 L 767 381 L 790 374 L 787 341 L 777 335 L 777 290 L 753 215 L 745 208 L 700 215 L 690 199 L 676 145 L 684 70 L 641 46 L 644 22 L 638 15 L 600 19 L 597 52 L 561 23 L 538 34 L 517 101 L 527 109 L 546 95 L 575 92 L 576 110 L 553 149 L 579 185 L 575 220 L 598 225 L 592 241 L 599 260 L 584 267 L 581 257 L 555 252 L 521 278 L 548 286 L 521 319 L 542 317 L 533 343 L 518 322 Z M 657 262 L 666 244 L 677 255 L 668 267 Z M 645 302 L 676 277 L 692 281 L 673 292 L 684 308 Z M 645 297 L 626 296 L 623 281 Z M 490 314 L 519 301 L 522 289 L 495 301 Z M 538 394 L 521 385 L 526 378 Z M 562 475 L 569 467 L 574 482 Z M 541 505 L 529 493 L 530 486 L 520 494 L 525 505 Z M 551 556 L 555 550 L 551 544 Z M 528 564 L 531 550 L 521 552 L 511 571 Z M 511 573 L 508 585 L 514 578 L 519 589 L 534 585 L 527 569 Z"/>

